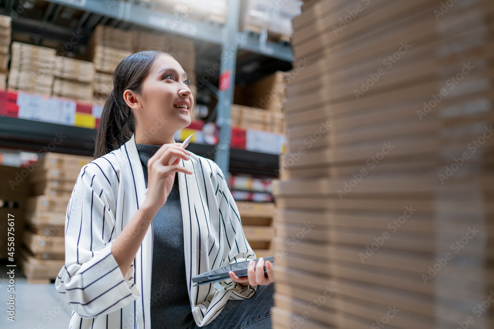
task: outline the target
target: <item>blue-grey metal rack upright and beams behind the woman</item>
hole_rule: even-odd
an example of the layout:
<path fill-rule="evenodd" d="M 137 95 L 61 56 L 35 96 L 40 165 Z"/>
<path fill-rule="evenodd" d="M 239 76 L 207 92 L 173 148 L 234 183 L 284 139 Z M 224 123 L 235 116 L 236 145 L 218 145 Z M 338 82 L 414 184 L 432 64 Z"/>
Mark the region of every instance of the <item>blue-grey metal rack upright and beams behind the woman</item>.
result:
<path fill-rule="evenodd" d="M 1 7 L 1 3 L 4 3 Z M 238 22 L 240 14 L 240 0 L 228 1 L 227 21 L 223 26 L 209 24 L 207 22 L 198 22 L 190 19 L 178 19 L 177 16 L 153 10 L 144 3 L 137 1 L 123 0 L 46 0 L 49 3 L 47 12 L 39 20 L 32 18 L 19 17 L 18 22 L 13 21 L 13 30 L 19 29 L 26 33 L 33 33 L 33 27 L 39 26 L 37 33 L 53 34 L 53 30 L 59 33 L 61 37 L 69 34 L 70 30 L 61 27 L 53 27 L 50 20 L 53 21 L 63 6 L 71 7 L 76 10 L 84 11 L 78 27 L 81 27 L 85 20 L 91 20 L 89 26 L 94 28 L 96 24 L 102 24 L 109 19 L 113 19 L 112 26 L 126 29 L 131 25 L 148 28 L 155 31 L 176 34 L 182 37 L 189 37 L 196 40 L 206 41 L 211 44 L 221 46 L 220 61 L 220 88 L 206 83 L 206 87 L 213 90 L 218 98 L 216 124 L 219 128 L 219 139 L 226 147 L 215 147 L 206 145 L 189 146 L 191 151 L 198 154 L 214 154 L 214 161 L 218 164 L 224 173 L 231 169 L 238 169 L 244 173 L 258 175 L 275 176 L 275 169 L 278 168 L 278 156 L 247 150 L 230 149 L 231 127 L 230 127 L 230 106 L 233 103 L 233 91 L 236 76 L 237 51 L 243 49 L 255 54 L 276 58 L 286 62 L 292 62 L 293 57 L 290 45 L 287 43 L 276 43 L 267 40 L 261 40 L 260 37 L 250 34 L 249 32 L 239 32 Z M 14 8 L 19 1 L 0 0 L 0 13 L 10 15 L 15 12 Z M 51 16 L 51 18 L 50 18 Z M 35 32 L 36 33 L 36 32 Z M 53 37 L 53 35 L 52 35 Z M 76 50 L 76 49 L 75 49 Z M 63 129 L 64 126 L 44 123 L 28 122 L 30 120 L 2 118 L 0 120 L 0 146 L 24 147 L 28 149 L 37 148 L 49 141 L 46 138 L 52 138 L 53 131 Z M 78 153 L 76 149 L 85 151 L 91 150 L 94 144 L 93 129 L 65 126 L 68 137 L 64 145 L 57 147 L 60 151 L 68 153 Z M 46 133 L 51 137 L 47 137 Z M 43 135 L 44 134 L 44 135 Z M 32 138 L 26 138 L 26 136 Z M 46 145 L 46 144 L 44 144 Z M 215 147 L 215 148 L 214 148 Z M 214 148 L 214 150 L 213 150 Z M 78 154 L 81 154 L 79 152 Z"/>

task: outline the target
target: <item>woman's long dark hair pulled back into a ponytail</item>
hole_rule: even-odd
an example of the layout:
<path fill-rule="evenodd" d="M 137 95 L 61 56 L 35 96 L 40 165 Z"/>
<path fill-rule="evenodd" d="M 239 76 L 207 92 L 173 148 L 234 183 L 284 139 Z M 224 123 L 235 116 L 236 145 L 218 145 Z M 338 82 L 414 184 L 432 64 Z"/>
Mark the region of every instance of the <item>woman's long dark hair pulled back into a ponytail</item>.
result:
<path fill-rule="evenodd" d="M 94 158 L 99 158 L 125 144 L 135 132 L 132 110 L 124 101 L 127 89 L 140 94 L 142 81 L 159 55 L 170 53 L 161 50 L 140 51 L 124 58 L 113 73 L 113 90 L 103 106 L 103 112 L 96 133 Z"/>

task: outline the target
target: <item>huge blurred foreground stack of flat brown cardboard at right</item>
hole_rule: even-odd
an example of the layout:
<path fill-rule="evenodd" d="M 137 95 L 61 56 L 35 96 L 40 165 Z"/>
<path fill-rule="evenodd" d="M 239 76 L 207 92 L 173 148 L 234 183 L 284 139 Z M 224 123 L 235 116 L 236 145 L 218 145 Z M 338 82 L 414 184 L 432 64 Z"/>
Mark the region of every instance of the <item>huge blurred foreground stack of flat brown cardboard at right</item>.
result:
<path fill-rule="evenodd" d="M 306 2 L 273 328 L 493 328 L 494 2 Z"/>

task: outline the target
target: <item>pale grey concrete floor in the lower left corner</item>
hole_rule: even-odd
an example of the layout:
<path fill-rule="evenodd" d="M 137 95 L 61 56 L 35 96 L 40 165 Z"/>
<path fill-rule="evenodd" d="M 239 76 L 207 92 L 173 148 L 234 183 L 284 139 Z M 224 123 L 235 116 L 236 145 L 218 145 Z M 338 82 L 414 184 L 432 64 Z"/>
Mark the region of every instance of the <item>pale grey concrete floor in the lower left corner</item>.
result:
<path fill-rule="evenodd" d="M 15 292 L 8 292 L 8 275 L 15 268 Z M 7 320 L 7 301 L 14 294 L 15 322 Z M 0 328 L 1 329 L 68 329 L 72 308 L 55 289 L 55 284 L 30 285 L 19 266 L 0 263 Z"/>

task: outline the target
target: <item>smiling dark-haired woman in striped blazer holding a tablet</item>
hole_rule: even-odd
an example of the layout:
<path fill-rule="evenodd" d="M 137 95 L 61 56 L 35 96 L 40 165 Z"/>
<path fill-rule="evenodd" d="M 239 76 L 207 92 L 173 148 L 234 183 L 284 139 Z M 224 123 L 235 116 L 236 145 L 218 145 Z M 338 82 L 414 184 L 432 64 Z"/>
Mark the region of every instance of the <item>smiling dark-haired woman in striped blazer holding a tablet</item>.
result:
<path fill-rule="evenodd" d="M 271 263 L 267 276 L 259 261 L 247 278 L 192 284 L 256 256 L 221 169 L 173 140 L 191 122 L 186 73 L 142 51 L 119 63 L 113 85 L 67 207 L 55 287 L 74 309 L 69 328 L 271 328 Z"/>

